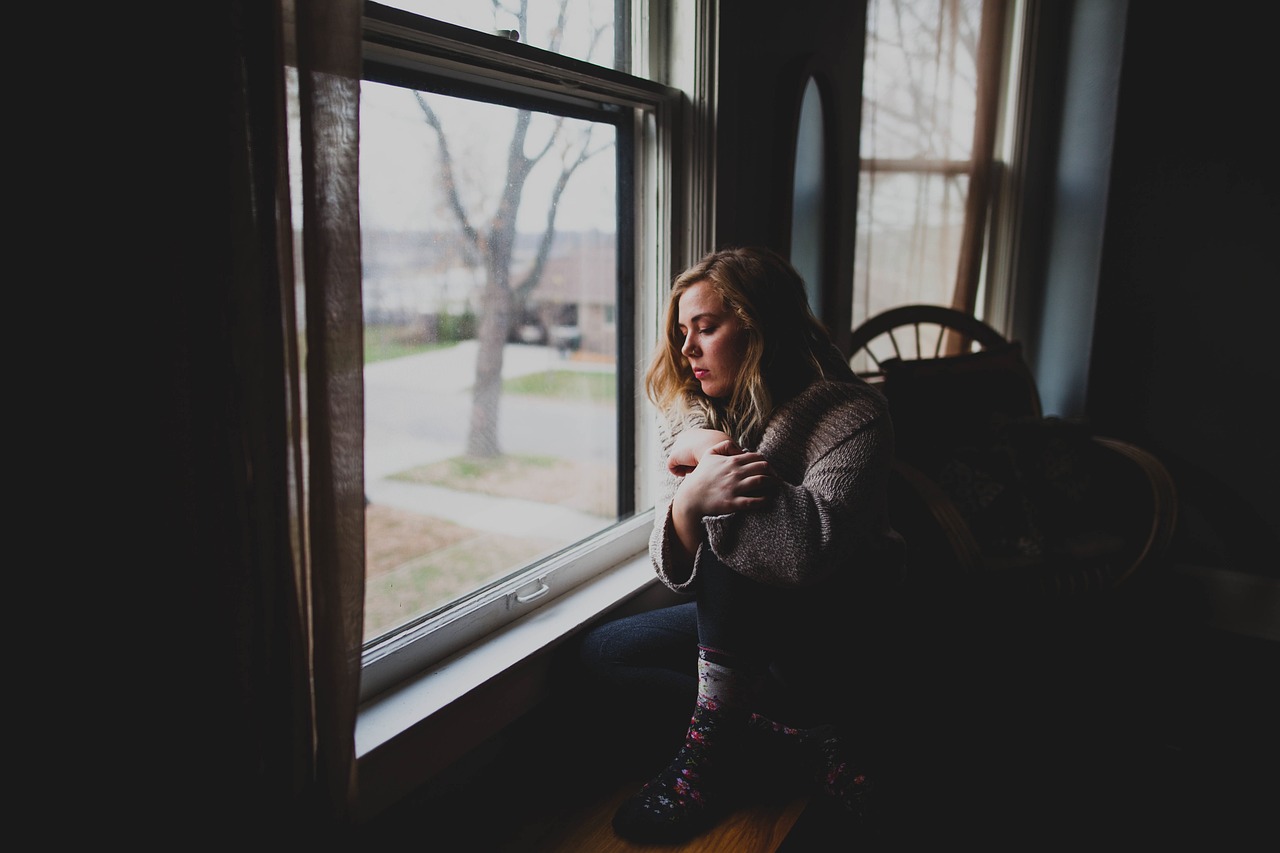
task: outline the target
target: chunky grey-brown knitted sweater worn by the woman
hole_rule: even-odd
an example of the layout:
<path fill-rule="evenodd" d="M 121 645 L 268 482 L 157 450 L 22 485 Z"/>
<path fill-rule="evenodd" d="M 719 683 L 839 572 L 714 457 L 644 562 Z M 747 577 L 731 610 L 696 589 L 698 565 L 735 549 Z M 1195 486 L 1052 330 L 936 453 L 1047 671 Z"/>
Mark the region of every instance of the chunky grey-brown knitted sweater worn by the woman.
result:
<path fill-rule="evenodd" d="M 663 450 L 669 453 L 680 432 L 699 425 L 659 418 Z M 879 581 L 900 570 L 901 538 L 886 506 L 893 426 L 877 389 L 860 379 L 817 380 L 780 406 L 759 447 L 746 450 L 769 461 L 778 489 L 759 508 L 704 517 L 707 537 L 687 576 L 672 557 L 680 546 L 671 501 L 681 478 L 663 475 L 649 555 L 667 587 L 692 593 L 708 548 L 735 571 L 778 587 L 860 571 Z"/>

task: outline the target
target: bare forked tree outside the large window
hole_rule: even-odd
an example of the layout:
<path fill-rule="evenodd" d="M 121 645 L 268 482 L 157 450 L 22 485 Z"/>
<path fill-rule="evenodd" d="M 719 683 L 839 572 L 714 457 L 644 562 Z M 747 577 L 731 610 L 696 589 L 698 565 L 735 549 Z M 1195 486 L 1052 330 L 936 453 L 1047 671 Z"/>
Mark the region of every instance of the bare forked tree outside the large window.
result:
<path fill-rule="evenodd" d="M 549 49 L 559 49 L 564 33 L 566 6 L 568 0 L 561 0 L 556 28 L 552 32 Z M 502 9 L 494 1 L 494 9 Z M 527 0 L 520 3 L 518 12 L 512 14 L 520 22 L 520 32 L 527 32 Z M 600 40 L 607 27 L 596 27 L 591 45 Z M 448 145 L 448 134 L 428 97 L 415 93 L 428 126 L 435 132 L 439 142 L 440 181 L 452 216 L 461 229 L 463 243 L 471 260 L 483 266 L 484 289 L 477 329 L 479 352 L 476 356 L 476 378 L 471 400 L 471 420 L 467 430 L 466 453 L 477 457 L 500 455 L 498 444 L 498 412 L 502 400 L 503 350 L 516 320 L 524 314 L 529 295 L 541 282 L 550 255 L 552 241 L 556 237 L 556 214 L 570 179 L 584 163 L 612 147 L 591 146 L 591 131 L 572 129 L 563 118 L 557 118 L 545 142 L 535 151 L 526 150 L 529 127 L 532 114 L 521 109 L 516 113 L 515 129 L 507 146 L 506 179 L 502 195 L 493 214 L 483 225 L 474 222 L 462 200 L 458 187 L 457 165 Z M 516 216 L 524 200 L 525 184 L 530 172 L 539 163 L 558 158 L 559 175 L 556 179 L 547 209 L 545 225 L 538 241 L 532 265 L 516 280 L 512 275 L 512 257 L 516 248 Z"/>

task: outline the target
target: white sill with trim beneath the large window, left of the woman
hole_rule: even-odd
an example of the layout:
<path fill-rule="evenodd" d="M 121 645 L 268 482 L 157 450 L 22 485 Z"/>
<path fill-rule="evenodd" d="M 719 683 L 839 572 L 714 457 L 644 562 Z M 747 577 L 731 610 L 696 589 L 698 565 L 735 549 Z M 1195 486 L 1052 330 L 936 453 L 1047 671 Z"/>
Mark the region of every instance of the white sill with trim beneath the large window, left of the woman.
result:
<path fill-rule="evenodd" d="M 548 652 L 602 613 L 671 593 L 648 551 L 360 707 L 358 817 L 376 815 L 547 695 Z"/>

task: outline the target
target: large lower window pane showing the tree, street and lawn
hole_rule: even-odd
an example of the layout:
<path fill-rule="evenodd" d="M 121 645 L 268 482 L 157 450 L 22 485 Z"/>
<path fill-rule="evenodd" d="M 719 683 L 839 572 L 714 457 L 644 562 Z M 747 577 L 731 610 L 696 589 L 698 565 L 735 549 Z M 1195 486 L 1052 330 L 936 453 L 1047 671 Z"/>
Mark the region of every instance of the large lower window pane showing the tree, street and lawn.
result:
<path fill-rule="evenodd" d="M 612 124 L 361 99 L 367 642 L 618 519 L 618 182 Z"/>

